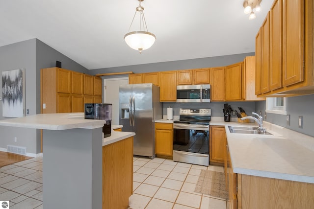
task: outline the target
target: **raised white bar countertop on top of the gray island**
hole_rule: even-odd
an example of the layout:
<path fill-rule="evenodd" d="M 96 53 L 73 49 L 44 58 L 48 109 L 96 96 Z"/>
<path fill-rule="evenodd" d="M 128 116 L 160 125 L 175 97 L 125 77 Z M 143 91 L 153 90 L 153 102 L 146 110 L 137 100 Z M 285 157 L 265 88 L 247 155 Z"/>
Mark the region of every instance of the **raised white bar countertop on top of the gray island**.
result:
<path fill-rule="evenodd" d="M 46 130 L 73 128 L 94 129 L 104 126 L 104 120 L 84 119 L 84 113 L 38 114 L 0 120 L 0 125 Z"/>

